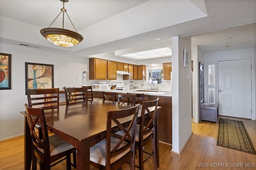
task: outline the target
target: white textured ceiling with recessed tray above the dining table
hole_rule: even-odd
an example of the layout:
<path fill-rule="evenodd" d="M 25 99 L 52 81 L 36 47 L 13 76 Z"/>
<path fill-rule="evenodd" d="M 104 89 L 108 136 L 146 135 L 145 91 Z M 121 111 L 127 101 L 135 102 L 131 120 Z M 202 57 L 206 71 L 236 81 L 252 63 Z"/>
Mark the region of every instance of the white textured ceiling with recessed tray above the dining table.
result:
<path fill-rule="evenodd" d="M 74 47 L 59 47 L 40 34 L 60 8 L 59 0 L 1 0 L 1 43 L 82 57 L 168 47 L 173 36 L 191 36 L 203 52 L 256 47 L 255 0 L 70 0 L 68 16 L 84 37 Z M 61 27 L 59 18 L 52 27 Z M 74 31 L 66 16 L 64 23 Z"/>

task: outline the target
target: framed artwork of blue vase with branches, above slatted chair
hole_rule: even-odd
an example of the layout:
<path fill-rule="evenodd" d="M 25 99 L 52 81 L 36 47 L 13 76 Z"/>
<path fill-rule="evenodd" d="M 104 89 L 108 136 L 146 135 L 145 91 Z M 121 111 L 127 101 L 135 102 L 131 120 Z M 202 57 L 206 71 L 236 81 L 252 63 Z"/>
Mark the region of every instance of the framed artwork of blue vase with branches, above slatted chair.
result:
<path fill-rule="evenodd" d="M 26 89 L 53 88 L 53 65 L 25 63 Z"/>

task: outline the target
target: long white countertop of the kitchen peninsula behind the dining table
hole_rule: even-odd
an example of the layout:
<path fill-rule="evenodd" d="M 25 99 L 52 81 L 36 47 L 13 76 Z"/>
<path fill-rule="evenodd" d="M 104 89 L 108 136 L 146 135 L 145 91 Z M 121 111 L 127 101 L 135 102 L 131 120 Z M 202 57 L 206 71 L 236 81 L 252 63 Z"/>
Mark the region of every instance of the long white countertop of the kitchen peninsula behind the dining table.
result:
<path fill-rule="evenodd" d="M 153 95 L 153 96 L 166 96 L 172 97 L 172 93 L 164 90 L 148 90 L 148 89 L 124 89 L 124 90 L 99 90 L 99 89 L 92 89 L 93 91 L 109 91 L 109 92 L 116 92 L 116 93 L 144 93 L 145 95 Z"/>

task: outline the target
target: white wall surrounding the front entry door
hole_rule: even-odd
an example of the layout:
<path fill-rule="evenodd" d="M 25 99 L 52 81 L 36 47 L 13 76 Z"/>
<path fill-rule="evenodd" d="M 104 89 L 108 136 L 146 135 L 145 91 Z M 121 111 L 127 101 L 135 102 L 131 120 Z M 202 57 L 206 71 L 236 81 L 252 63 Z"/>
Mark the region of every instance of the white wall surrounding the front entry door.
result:
<path fill-rule="evenodd" d="M 212 61 L 225 61 L 234 59 L 252 59 L 252 120 L 256 119 L 256 92 L 255 92 L 255 79 L 256 79 L 256 48 L 226 50 L 226 51 L 215 51 L 204 53 L 204 64 Z M 217 66 L 218 67 L 218 66 Z M 206 71 L 204 71 L 206 73 Z M 206 76 L 204 76 L 206 77 Z M 206 88 L 205 88 L 206 89 Z M 204 92 L 206 94 L 206 92 Z"/>

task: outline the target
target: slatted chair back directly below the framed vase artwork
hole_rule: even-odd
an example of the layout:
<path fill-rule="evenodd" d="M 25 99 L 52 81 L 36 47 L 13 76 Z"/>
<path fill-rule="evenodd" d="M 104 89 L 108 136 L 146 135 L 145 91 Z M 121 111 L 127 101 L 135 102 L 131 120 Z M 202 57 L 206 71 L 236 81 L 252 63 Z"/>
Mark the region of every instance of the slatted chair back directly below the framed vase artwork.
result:
<path fill-rule="evenodd" d="M 59 88 L 54 89 L 26 89 L 29 107 L 59 106 Z"/>

